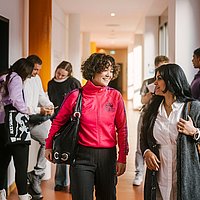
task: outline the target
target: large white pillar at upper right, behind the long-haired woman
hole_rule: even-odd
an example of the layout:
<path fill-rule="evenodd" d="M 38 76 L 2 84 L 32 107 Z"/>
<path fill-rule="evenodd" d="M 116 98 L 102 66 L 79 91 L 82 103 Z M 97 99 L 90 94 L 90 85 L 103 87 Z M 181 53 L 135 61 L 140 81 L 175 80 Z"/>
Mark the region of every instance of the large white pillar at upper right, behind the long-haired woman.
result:
<path fill-rule="evenodd" d="M 199 0 L 170 0 L 169 52 L 174 52 L 174 61 L 184 69 L 189 83 L 197 72 L 191 60 L 193 51 L 200 47 L 199 10 Z"/>

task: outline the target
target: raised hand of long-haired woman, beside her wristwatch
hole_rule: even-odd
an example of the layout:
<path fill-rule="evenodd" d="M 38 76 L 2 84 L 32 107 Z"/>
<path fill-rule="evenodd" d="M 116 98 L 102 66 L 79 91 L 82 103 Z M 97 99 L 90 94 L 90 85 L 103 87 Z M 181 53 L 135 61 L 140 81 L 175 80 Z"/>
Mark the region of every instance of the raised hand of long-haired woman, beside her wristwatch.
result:
<path fill-rule="evenodd" d="M 183 133 L 185 135 L 193 136 L 196 132 L 196 128 L 193 125 L 193 121 L 190 116 L 188 116 L 189 120 L 186 121 L 183 118 L 180 118 L 177 123 L 178 132 Z"/>

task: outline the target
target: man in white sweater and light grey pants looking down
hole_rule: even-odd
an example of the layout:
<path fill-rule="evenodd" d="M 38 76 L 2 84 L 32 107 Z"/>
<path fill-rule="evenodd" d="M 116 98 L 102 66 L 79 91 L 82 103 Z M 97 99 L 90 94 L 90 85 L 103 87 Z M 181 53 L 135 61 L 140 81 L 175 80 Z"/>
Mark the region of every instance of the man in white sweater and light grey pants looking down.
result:
<path fill-rule="evenodd" d="M 24 97 L 30 110 L 30 115 L 38 113 L 43 116 L 53 115 L 53 103 L 49 100 L 48 95 L 45 94 L 41 79 L 38 75 L 42 67 L 42 60 L 37 55 L 30 55 L 27 59 L 34 64 L 32 77 L 24 83 Z M 42 177 L 45 175 L 45 139 L 47 138 L 50 126 L 51 120 L 48 119 L 39 125 L 30 127 L 32 139 L 40 144 L 34 170 L 27 175 L 30 187 L 33 190 L 32 196 L 34 199 L 42 198 L 40 184 Z"/>

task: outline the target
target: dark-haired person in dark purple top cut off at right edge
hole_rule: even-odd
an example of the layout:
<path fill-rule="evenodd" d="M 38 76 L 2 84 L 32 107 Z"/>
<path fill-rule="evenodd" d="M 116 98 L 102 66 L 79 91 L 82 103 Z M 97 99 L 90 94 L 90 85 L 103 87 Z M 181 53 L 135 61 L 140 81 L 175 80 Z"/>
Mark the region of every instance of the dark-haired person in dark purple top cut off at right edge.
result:
<path fill-rule="evenodd" d="M 191 83 L 192 96 L 200 100 L 200 48 L 194 51 L 192 63 L 194 68 L 199 70 Z"/>

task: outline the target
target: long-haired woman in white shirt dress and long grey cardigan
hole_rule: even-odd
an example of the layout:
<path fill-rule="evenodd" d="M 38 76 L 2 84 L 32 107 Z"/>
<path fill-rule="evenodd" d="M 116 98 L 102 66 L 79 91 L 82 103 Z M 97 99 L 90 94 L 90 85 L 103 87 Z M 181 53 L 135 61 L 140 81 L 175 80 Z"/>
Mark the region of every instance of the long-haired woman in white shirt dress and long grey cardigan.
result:
<path fill-rule="evenodd" d="M 200 102 L 177 64 L 156 68 L 154 84 L 140 138 L 147 165 L 144 199 L 200 199 Z"/>

